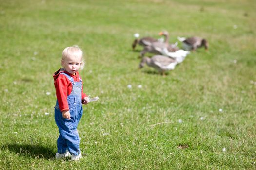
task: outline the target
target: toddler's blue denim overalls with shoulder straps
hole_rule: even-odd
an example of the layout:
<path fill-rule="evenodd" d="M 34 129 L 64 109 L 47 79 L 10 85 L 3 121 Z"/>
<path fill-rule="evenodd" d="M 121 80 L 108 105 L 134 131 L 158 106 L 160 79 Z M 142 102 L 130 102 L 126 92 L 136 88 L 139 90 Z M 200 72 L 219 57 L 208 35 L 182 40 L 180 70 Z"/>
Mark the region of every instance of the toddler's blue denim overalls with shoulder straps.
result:
<path fill-rule="evenodd" d="M 62 113 L 59 110 L 58 100 L 54 109 L 55 122 L 59 128 L 59 138 L 57 139 L 58 153 L 62 154 L 68 150 L 72 155 L 79 155 L 81 153 L 79 145 L 80 138 L 78 135 L 78 123 L 82 117 L 82 80 L 74 82 L 74 79 L 66 73 L 64 74 L 72 83 L 72 91 L 67 97 L 68 107 L 70 112 L 70 120 L 62 117 Z"/>

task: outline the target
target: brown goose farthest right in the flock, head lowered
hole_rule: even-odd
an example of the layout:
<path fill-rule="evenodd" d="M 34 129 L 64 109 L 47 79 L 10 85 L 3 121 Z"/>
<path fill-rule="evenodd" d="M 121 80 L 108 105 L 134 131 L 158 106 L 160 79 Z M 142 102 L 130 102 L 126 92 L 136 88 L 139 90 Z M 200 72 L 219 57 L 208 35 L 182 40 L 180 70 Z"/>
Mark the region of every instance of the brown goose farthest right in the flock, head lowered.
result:
<path fill-rule="evenodd" d="M 183 49 L 186 51 L 196 51 L 197 48 L 203 47 L 203 46 L 206 51 L 208 50 L 209 44 L 207 40 L 204 38 L 200 38 L 197 36 L 193 36 L 190 38 L 178 37 L 178 40 L 183 43 Z"/>

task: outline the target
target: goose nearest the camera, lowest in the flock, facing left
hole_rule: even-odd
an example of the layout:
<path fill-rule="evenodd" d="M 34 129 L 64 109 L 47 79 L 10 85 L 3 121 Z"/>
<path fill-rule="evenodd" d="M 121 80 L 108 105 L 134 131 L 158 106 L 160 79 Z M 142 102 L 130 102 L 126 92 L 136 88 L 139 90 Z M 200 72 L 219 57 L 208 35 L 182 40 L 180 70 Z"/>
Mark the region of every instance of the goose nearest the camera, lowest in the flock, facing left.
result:
<path fill-rule="evenodd" d="M 158 70 L 162 75 L 165 75 L 165 71 L 173 70 L 177 65 L 177 61 L 167 56 L 154 55 L 153 57 L 143 57 L 139 68 L 143 68 L 145 64 L 149 67 L 153 67 Z"/>

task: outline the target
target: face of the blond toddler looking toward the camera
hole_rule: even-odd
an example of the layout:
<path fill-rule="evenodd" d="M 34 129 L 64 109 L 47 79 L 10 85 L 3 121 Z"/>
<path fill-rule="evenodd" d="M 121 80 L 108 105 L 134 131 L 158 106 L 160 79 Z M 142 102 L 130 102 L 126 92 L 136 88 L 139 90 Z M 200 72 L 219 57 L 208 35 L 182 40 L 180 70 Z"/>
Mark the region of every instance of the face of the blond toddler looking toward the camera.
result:
<path fill-rule="evenodd" d="M 75 74 L 82 63 L 82 57 L 66 57 L 62 60 L 62 66 L 64 66 L 65 70 L 70 74 Z"/>

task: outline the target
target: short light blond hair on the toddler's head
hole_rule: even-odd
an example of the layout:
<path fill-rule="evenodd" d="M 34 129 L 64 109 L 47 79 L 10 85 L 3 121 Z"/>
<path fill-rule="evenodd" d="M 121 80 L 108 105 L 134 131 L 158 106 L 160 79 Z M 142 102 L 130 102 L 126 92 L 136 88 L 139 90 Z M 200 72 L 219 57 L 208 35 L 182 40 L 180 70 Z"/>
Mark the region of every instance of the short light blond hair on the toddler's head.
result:
<path fill-rule="evenodd" d="M 61 59 L 61 65 L 62 65 L 62 61 L 67 57 L 76 57 L 76 58 L 80 58 L 82 60 L 81 66 L 79 69 L 83 69 L 84 67 L 84 61 L 83 61 L 83 51 L 81 50 L 81 48 L 77 45 L 73 45 L 71 47 L 66 47 L 63 52 L 62 52 L 62 59 Z"/>

